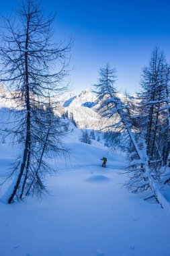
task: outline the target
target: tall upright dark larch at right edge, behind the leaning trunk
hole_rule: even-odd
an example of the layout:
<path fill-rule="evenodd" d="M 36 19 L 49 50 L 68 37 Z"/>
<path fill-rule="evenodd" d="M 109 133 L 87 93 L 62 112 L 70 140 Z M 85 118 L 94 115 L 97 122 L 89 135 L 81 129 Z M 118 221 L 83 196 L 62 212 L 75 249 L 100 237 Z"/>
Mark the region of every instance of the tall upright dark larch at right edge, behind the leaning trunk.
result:
<path fill-rule="evenodd" d="M 169 145 L 169 67 L 162 51 L 155 48 L 148 67 L 142 70 L 140 99 L 140 130 L 144 131 L 149 166 L 155 179 L 161 179 L 162 166 L 168 160 Z M 140 131 L 140 132 L 141 132 Z"/>

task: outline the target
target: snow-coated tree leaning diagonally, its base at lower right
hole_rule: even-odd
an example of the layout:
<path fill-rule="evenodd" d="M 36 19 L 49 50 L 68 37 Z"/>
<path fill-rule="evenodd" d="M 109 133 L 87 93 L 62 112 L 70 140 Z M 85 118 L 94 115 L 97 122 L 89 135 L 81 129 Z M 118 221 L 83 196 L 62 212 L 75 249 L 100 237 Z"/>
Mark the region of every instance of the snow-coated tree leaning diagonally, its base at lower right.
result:
<path fill-rule="evenodd" d="M 118 115 L 120 120 L 116 125 L 124 128 L 126 133 L 128 133 L 132 148 L 130 170 L 128 171 L 130 173 L 130 182 L 128 185 L 136 191 L 149 187 L 162 207 L 169 207 L 169 203 L 163 196 L 163 193 L 161 193 L 159 180 L 155 179 L 155 173 L 153 173 L 150 166 L 145 132 L 143 131 L 140 135 L 140 140 L 136 141 L 136 137 L 132 131 L 132 122 L 128 107 L 116 96 L 116 88 L 113 83 L 105 83 L 104 88 L 103 84 L 98 84 L 95 87 L 98 90 L 97 94 L 99 95 L 98 100 L 100 102 L 98 109 L 101 116 L 113 118 L 115 115 Z"/>

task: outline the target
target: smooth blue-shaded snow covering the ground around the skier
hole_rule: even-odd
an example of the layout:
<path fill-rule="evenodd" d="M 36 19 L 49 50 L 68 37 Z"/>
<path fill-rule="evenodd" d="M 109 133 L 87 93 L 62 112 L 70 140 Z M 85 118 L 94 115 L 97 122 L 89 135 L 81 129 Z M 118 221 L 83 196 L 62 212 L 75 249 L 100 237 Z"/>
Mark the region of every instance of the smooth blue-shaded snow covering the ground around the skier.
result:
<path fill-rule="evenodd" d="M 66 138 L 70 160 L 52 161 L 58 172 L 46 181 L 48 195 L 0 203 L 0 256 L 169 256 L 169 212 L 122 187 L 123 156 L 79 134 Z M 1 171 L 16 152 L 0 144 Z"/>

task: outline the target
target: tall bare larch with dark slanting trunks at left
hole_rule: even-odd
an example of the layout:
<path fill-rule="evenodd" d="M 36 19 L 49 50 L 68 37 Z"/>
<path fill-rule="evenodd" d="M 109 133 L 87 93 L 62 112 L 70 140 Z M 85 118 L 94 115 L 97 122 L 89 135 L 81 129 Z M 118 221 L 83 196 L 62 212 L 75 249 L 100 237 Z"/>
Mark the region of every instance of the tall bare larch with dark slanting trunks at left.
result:
<path fill-rule="evenodd" d="M 21 1 L 15 18 L 5 18 L 5 32 L 1 34 L 0 82 L 16 102 L 15 125 L 9 133 L 23 148 L 9 175 L 15 179 L 8 203 L 22 199 L 31 190 L 42 193 L 44 173 L 49 170 L 44 156 L 67 152 L 61 142 L 65 124 L 54 116 L 52 106 L 67 89 L 63 81 L 71 42 L 66 46 L 54 43 L 54 15 L 46 16 L 41 8 L 40 1 Z"/>

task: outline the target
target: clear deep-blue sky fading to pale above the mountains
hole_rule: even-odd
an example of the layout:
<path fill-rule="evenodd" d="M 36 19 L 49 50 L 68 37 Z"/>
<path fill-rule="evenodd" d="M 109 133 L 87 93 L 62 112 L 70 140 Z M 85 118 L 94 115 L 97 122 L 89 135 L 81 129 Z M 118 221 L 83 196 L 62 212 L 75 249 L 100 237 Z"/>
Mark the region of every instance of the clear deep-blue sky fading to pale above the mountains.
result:
<path fill-rule="evenodd" d="M 18 0 L 19 1 L 19 0 Z M 118 90 L 140 88 L 140 71 L 154 46 L 170 62 L 170 0 L 43 0 L 56 12 L 56 40 L 73 38 L 69 79 L 75 92 L 97 82 L 106 63 L 118 71 Z M 15 0 L 0 0 L 0 13 L 10 13 Z"/>

